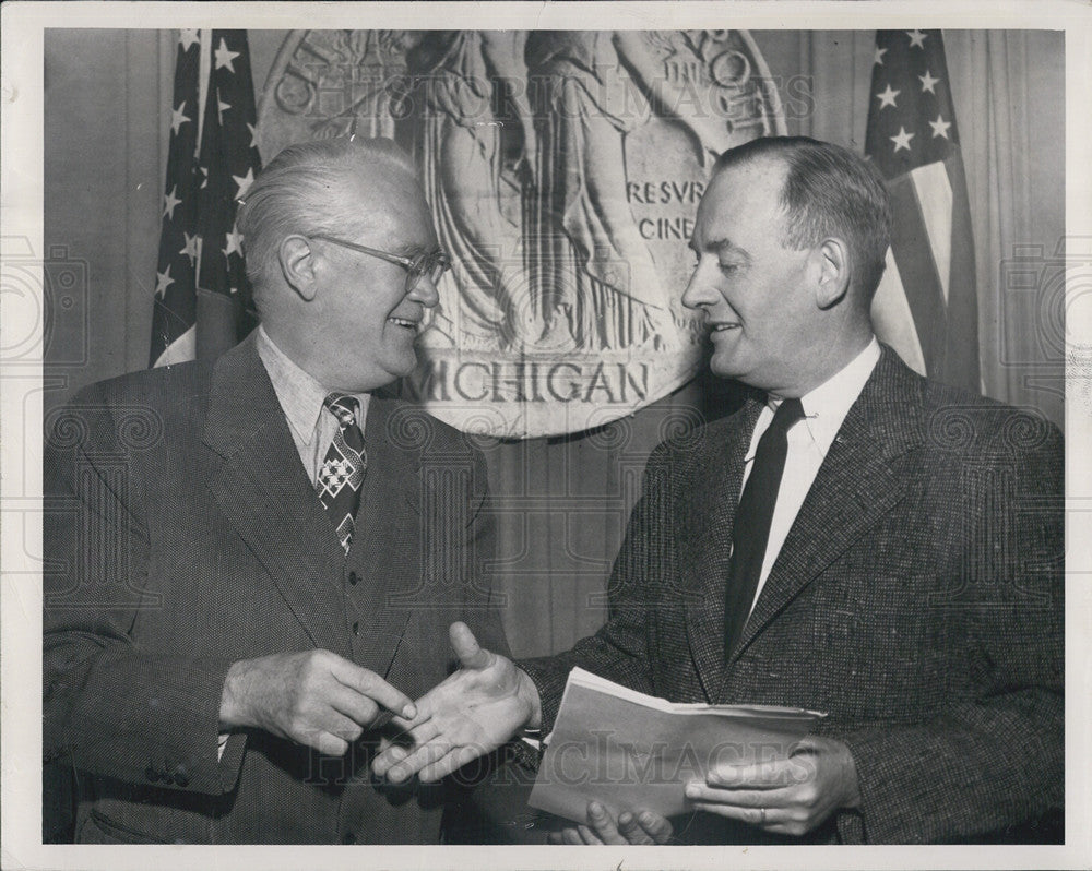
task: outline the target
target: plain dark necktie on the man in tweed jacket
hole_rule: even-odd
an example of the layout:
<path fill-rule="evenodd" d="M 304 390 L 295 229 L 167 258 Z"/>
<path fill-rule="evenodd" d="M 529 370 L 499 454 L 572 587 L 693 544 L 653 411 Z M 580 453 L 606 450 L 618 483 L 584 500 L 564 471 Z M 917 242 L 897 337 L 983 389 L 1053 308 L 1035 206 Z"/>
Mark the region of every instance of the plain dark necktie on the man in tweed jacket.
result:
<path fill-rule="evenodd" d="M 778 489 L 788 453 L 788 430 L 804 417 L 799 399 L 784 399 L 773 421 L 758 442 L 755 464 L 739 497 L 732 529 L 732 559 L 728 563 L 728 589 L 724 608 L 724 656 L 732 655 L 755 601 L 755 590 L 762 574 L 770 522 L 778 502 Z"/>

